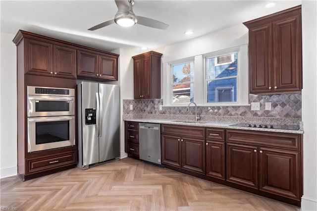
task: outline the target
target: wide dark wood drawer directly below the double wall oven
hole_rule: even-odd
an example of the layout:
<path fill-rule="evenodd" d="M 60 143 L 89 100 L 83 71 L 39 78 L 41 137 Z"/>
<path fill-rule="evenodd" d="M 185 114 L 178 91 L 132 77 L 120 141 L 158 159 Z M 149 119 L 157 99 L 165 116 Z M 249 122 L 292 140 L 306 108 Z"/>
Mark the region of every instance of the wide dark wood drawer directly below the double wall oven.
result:
<path fill-rule="evenodd" d="M 59 168 L 71 164 L 76 164 L 76 151 L 69 153 L 62 153 L 53 156 L 45 156 L 40 158 L 25 159 L 26 172 L 25 174 L 32 174 L 41 171 L 46 171 L 54 168 Z"/>

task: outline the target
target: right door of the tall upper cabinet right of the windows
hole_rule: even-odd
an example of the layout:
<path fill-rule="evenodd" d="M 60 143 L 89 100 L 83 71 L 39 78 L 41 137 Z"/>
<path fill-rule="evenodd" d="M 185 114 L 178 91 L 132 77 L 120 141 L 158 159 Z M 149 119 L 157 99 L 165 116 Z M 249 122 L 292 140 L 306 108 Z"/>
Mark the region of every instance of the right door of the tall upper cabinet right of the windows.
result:
<path fill-rule="evenodd" d="M 274 21 L 272 28 L 274 92 L 301 91 L 301 15 Z"/>

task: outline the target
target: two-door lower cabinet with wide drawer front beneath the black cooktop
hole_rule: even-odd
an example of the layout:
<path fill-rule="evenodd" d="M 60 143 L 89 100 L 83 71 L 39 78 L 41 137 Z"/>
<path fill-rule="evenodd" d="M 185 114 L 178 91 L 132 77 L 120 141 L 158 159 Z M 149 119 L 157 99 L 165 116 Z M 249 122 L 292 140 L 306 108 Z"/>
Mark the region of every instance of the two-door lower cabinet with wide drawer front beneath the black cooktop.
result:
<path fill-rule="evenodd" d="M 226 180 L 300 202 L 301 139 L 300 134 L 228 129 Z"/>

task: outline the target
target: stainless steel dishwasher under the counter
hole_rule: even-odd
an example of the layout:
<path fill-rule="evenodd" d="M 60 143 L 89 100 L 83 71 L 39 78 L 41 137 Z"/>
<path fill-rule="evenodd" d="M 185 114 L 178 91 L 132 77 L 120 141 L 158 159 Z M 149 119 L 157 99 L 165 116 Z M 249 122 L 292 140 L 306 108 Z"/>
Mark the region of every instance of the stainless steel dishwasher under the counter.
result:
<path fill-rule="evenodd" d="M 139 123 L 140 159 L 161 164 L 160 124 Z"/>

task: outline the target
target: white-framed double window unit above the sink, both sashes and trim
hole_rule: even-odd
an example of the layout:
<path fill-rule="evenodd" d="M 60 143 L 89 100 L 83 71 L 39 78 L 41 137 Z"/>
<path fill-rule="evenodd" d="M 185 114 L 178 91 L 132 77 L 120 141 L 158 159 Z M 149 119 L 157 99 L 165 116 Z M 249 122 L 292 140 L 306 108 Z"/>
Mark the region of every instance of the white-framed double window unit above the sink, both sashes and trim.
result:
<path fill-rule="evenodd" d="M 187 106 L 190 102 L 249 106 L 247 44 L 179 60 L 165 59 L 163 106 Z"/>

